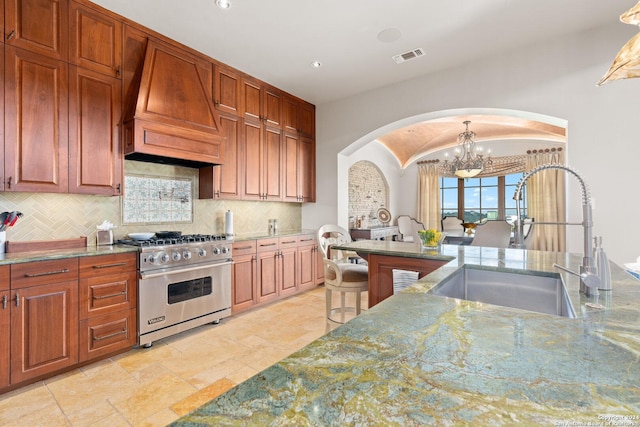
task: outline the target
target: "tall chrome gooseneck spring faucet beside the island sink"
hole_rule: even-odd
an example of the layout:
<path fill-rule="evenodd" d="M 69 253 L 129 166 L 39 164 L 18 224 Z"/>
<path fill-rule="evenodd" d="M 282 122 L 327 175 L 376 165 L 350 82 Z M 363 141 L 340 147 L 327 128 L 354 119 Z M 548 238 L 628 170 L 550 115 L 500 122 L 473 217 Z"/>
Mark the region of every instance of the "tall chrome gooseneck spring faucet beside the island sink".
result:
<path fill-rule="evenodd" d="M 568 223 L 568 222 L 535 222 L 536 225 L 541 224 L 566 224 L 566 225 L 582 225 L 584 229 L 584 255 L 582 257 L 582 265 L 580 266 L 580 273 L 576 273 L 567 269 L 561 265 L 554 264 L 553 266 L 559 268 L 567 273 L 571 273 L 580 277 L 580 292 L 584 292 L 587 296 L 598 295 L 598 286 L 600 285 L 600 277 L 597 274 L 597 268 L 593 260 L 593 252 L 591 249 L 591 229 L 593 227 L 593 219 L 591 214 L 591 195 L 589 189 L 584 181 L 584 178 L 578 174 L 574 169 L 569 166 L 559 164 L 545 164 L 540 165 L 535 169 L 527 172 L 522 179 L 516 185 L 516 191 L 513 194 L 513 199 L 516 201 L 516 230 L 514 233 L 515 247 L 523 248 L 522 236 L 523 225 L 520 218 L 520 200 L 522 199 L 522 187 L 532 175 L 546 170 L 546 169 L 561 169 L 569 172 L 578 179 L 580 187 L 582 188 L 582 222 L 581 223 Z"/>

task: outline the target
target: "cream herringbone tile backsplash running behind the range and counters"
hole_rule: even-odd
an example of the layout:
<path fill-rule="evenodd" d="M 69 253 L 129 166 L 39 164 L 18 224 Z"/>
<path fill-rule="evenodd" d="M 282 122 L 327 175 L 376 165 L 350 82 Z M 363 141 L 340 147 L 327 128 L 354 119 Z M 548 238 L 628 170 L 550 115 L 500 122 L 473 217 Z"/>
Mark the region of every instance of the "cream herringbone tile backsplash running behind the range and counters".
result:
<path fill-rule="evenodd" d="M 153 163 L 125 161 L 125 174 L 135 177 L 154 177 L 170 182 L 192 183 L 192 195 L 198 194 L 197 169 Z M 125 187 L 125 193 L 128 188 Z M 174 192 L 174 196 L 176 193 Z M 234 234 L 255 235 L 268 232 L 268 221 L 278 220 L 281 231 L 299 230 L 302 225 L 302 209 L 299 203 L 198 200 L 191 199 L 192 219 L 172 217 L 160 221 L 127 223 L 124 218 L 125 197 L 86 196 L 79 194 L 0 192 L 0 212 L 21 211 L 24 216 L 7 230 L 9 241 L 66 239 L 87 236 L 90 245 L 95 244 L 96 225 L 107 220 L 116 225 L 116 239 L 132 232 L 178 230 L 186 234 L 224 233 L 224 214 L 234 214 Z M 175 201 L 181 203 L 180 200 Z M 153 218 L 154 220 L 157 218 Z"/>

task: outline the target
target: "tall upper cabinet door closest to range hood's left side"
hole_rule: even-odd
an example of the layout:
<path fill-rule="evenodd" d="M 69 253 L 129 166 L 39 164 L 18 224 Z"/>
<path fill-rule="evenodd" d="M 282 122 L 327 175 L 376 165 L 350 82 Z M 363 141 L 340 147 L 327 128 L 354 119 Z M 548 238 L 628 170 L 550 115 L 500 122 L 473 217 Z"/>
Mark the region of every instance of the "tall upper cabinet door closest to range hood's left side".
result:
<path fill-rule="evenodd" d="M 71 66 L 69 192 L 119 195 L 122 183 L 122 82 Z"/>

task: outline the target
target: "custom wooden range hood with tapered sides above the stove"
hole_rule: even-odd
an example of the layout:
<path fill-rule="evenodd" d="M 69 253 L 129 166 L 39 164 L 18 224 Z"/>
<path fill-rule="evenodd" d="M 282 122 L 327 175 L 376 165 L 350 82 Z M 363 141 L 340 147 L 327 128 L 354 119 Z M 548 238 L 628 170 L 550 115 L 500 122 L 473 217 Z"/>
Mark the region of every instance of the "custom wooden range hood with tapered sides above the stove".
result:
<path fill-rule="evenodd" d="M 125 157 L 195 168 L 222 164 L 212 64 L 149 39 L 139 78 L 133 115 L 124 122 Z"/>

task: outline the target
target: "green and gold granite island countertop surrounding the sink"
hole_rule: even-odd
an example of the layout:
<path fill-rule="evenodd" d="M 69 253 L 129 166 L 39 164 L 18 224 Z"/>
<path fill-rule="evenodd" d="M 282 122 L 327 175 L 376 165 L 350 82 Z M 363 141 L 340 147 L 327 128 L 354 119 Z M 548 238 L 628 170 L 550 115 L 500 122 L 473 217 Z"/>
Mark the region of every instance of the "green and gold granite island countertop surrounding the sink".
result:
<path fill-rule="evenodd" d="M 550 275 L 581 256 L 398 244 L 346 246 L 450 262 L 175 425 L 640 425 L 640 281 L 612 263 L 612 291 L 585 297 L 562 273 L 564 318 L 428 291 L 464 265 Z"/>

